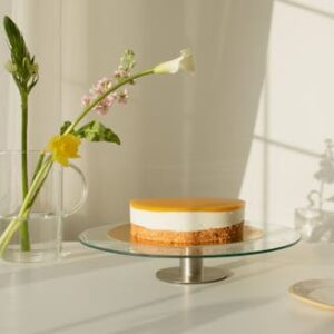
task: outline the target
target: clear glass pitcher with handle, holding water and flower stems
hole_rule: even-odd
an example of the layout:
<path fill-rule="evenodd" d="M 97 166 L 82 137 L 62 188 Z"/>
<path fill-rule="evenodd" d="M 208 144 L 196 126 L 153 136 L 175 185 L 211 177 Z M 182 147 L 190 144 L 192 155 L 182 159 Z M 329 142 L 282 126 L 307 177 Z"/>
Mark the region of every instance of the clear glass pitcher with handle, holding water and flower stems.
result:
<path fill-rule="evenodd" d="M 0 234 L 16 218 L 23 202 L 22 155 L 19 150 L 0 151 Z M 28 183 L 30 185 L 40 151 L 28 151 L 24 155 L 28 160 Z M 78 203 L 70 210 L 65 212 L 62 174 L 71 173 L 70 169 L 80 178 L 82 190 Z M 63 218 L 81 207 L 87 191 L 85 176 L 78 167 L 70 165 L 70 168 L 62 168 L 55 163 L 35 198 L 28 218 L 20 222 L 19 229 L 3 253 L 3 259 L 13 262 L 57 259 L 61 252 Z M 24 228 L 26 232 L 22 230 Z M 22 237 L 23 235 L 24 237 Z"/>

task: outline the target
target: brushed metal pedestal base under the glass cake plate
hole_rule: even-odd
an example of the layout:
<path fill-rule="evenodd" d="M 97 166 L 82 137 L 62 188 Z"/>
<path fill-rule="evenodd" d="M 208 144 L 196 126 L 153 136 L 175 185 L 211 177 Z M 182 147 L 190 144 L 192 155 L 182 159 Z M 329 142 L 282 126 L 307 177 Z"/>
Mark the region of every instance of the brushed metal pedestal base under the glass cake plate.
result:
<path fill-rule="evenodd" d="M 198 257 L 180 258 L 179 267 L 160 269 L 157 278 L 175 284 L 200 284 L 225 279 L 228 273 L 224 269 L 203 266 L 203 259 Z"/>

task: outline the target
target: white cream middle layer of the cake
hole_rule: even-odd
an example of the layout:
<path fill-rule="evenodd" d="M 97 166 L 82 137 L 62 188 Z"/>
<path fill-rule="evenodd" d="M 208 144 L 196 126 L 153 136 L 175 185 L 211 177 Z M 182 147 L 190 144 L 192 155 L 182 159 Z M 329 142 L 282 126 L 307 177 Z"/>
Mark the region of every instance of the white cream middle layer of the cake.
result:
<path fill-rule="evenodd" d="M 197 232 L 223 228 L 244 220 L 244 208 L 230 212 L 154 212 L 130 207 L 131 224 L 154 229 Z"/>

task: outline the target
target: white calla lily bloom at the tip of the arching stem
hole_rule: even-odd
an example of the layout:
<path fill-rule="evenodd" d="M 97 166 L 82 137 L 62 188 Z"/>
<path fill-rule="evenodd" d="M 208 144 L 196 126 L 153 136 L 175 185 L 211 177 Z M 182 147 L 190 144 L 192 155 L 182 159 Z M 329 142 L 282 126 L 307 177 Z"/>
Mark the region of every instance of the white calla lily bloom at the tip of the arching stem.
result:
<path fill-rule="evenodd" d="M 177 73 L 178 71 L 195 71 L 195 61 L 190 49 L 184 49 L 180 51 L 180 57 L 161 62 L 154 68 L 154 72 L 158 75 L 163 73 Z"/>

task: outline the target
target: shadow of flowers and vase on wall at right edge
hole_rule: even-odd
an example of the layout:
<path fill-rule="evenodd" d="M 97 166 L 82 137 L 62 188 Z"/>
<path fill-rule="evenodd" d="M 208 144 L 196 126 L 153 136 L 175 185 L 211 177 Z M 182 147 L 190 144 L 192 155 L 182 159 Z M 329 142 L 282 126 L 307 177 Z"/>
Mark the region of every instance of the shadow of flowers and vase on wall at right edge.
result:
<path fill-rule="evenodd" d="M 312 189 L 306 207 L 295 209 L 295 227 L 304 240 L 334 242 L 334 144 L 325 140 L 325 150 L 321 155 L 320 169 L 314 174 L 318 189 Z M 332 206 L 332 208 L 331 208 Z"/>

